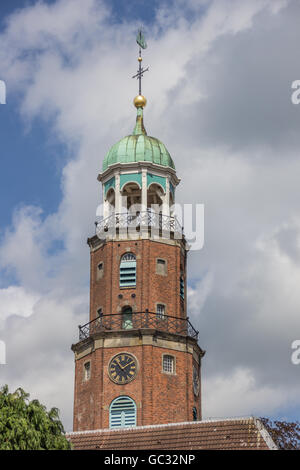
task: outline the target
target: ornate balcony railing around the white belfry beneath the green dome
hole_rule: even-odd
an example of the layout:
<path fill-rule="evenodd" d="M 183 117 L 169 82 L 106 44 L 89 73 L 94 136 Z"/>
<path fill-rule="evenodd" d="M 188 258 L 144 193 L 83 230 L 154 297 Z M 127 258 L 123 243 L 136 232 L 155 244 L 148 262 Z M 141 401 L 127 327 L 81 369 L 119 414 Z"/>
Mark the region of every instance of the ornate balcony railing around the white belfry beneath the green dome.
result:
<path fill-rule="evenodd" d="M 121 233 L 149 231 L 152 234 L 181 239 L 183 228 L 175 216 L 154 212 L 153 210 L 137 212 L 113 213 L 105 219 L 97 217 L 95 221 L 96 234 L 99 238 L 107 235 L 115 236 Z"/>

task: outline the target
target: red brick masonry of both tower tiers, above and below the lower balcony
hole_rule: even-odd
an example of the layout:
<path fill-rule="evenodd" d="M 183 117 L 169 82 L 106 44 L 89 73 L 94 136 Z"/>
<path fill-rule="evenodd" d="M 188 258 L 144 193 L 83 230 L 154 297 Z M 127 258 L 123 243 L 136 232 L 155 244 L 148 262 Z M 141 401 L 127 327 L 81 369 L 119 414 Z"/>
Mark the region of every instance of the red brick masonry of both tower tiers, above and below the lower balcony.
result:
<path fill-rule="evenodd" d="M 89 240 L 91 249 L 90 320 L 101 307 L 104 314 L 119 313 L 124 306 L 133 311 L 156 311 L 166 305 L 166 314 L 186 318 L 186 298 L 180 298 L 180 275 L 186 282 L 186 250 L 183 241 Z M 132 252 L 137 258 L 136 288 L 120 289 L 121 256 Z M 156 260 L 166 260 L 167 271 L 158 274 Z M 102 263 L 99 276 L 98 265 Z M 135 297 L 132 297 L 132 294 Z M 122 294 L 122 299 L 119 295 Z M 185 296 L 186 297 L 186 296 Z M 147 332 L 103 332 L 98 340 L 89 338 L 73 345 L 75 352 L 74 431 L 109 427 L 109 406 L 120 395 L 137 405 L 137 425 L 193 420 L 193 407 L 201 419 L 201 392 L 193 391 L 193 366 L 200 375 L 203 351 L 195 340 L 155 330 Z M 125 385 L 115 384 L 108 364 L 119 352 L 133 354 L 138 361 L 136 378 Z M 175 373 L 162 370 L 162 356 L 175 358 Z M 84 364 L 91 363 L 91 376 L 84 378 Z"/>

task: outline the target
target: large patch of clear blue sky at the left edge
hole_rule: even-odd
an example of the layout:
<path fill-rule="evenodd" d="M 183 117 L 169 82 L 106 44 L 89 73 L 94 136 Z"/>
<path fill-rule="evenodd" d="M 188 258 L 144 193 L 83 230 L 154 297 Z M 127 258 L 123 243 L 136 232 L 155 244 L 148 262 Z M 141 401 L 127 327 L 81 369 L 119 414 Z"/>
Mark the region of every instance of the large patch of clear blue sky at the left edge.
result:
<path fill-rule="evenodd" d="M 12 212 L 20 204 L 33 204 L 51 212 L 61 197 L 60 167 L 64 149 L 51 138 L 47 126 L 35 122 L 26 129 L 16 100 L 7 90 L 7 104 L 0 108 L 1 226 L 11 223 Z M 59 158 L 58 158 L 59 155 Z"/>

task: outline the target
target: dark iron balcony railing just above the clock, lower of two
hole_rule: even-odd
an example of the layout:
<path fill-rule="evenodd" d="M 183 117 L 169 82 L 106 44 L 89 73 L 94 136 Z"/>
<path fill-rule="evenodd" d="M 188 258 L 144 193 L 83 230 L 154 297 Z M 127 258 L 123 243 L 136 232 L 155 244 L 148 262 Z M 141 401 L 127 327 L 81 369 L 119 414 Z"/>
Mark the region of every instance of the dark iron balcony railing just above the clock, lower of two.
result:
<path fill-rule="evenodd" d="M 178 318 L 145 311 L 102 315 L 83 326 L 79 326 L 79 341 L 104 331 L 139 330 L 143 328 L 190 336 L 196 340 L 199 334 L 188 318 Z"/>

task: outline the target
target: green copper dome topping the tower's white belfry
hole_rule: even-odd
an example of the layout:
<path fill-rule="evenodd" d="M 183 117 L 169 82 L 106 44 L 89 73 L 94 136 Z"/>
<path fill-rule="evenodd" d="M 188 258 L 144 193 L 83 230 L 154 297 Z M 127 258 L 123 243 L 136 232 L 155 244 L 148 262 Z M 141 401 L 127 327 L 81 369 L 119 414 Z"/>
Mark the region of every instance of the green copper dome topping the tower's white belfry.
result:
<path fill-rule="evenodd" d="M 175 169 L 165 145 L 155 137 L 147 136 L 143 123 L 143 109 L 138 108 L 136 125 L 128 135 L 111 147 L 103 161 L 103 171 L 114 163 L 152 162 Z"/>

